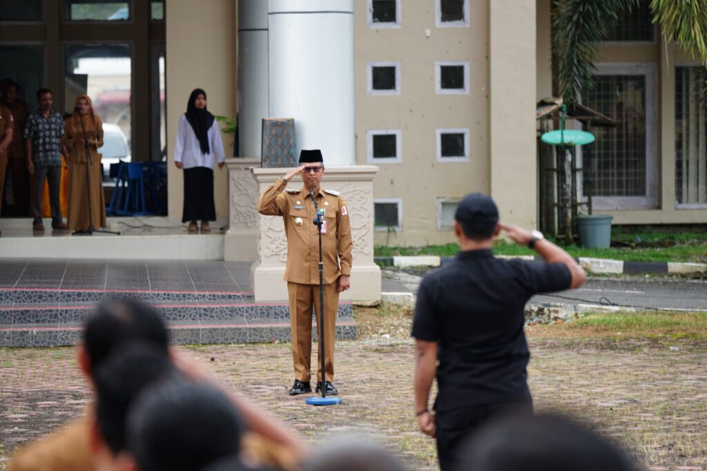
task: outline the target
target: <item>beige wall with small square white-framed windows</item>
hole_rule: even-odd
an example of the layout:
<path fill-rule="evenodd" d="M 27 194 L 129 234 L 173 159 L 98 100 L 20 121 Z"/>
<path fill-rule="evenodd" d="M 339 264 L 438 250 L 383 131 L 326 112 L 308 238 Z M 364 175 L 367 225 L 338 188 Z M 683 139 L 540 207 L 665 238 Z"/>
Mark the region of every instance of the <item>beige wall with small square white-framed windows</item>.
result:
<path fill-rule="evenodd" d="M 401 1 L 400 28 L 370 28 L 367 2 L 356 0 L 356 163 L 369 163 L 371 129 L 402 132 L 402 162 L 377 163 L 375 199 L 402 200 L 402 231 L 376 232 L 376 245 L 455 240 L 437 230 L 437 199 L 489 192 L 488 1 L 469 1 L 469 25 L 438 28 L 435 1 Z M 438 95 L 436 61 L 468 61 L 469 93 Z M 368 62 L 399 62 L 399 95 L 369 95 Z M 469 129 L 469 161 L 438 162 L 436 129 Z"/>

